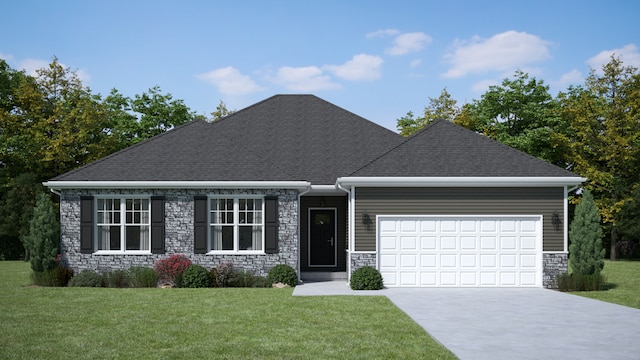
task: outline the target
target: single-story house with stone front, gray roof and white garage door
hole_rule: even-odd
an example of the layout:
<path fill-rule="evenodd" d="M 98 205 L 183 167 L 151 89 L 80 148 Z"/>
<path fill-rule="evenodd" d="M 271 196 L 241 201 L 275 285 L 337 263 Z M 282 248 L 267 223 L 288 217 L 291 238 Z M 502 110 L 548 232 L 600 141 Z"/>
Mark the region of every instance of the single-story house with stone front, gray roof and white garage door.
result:
<path fill-rule="evenodd" d="M 186 254 L 386 286 L 549 287 L 585 179 L 436 121 L 410 138 L 312 95 L 195 121 L 46 182 L 75 271 Z"/>

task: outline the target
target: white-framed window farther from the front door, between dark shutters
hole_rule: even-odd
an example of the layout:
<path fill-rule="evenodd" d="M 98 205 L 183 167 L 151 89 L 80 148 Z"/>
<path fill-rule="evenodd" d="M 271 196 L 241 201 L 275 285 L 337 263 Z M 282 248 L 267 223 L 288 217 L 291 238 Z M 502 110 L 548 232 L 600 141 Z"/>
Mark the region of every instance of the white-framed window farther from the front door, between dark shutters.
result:
<path fill-rule="evenodd" d="M 149 199 L 97 199 L 98 252 L 151 251 Z"/>

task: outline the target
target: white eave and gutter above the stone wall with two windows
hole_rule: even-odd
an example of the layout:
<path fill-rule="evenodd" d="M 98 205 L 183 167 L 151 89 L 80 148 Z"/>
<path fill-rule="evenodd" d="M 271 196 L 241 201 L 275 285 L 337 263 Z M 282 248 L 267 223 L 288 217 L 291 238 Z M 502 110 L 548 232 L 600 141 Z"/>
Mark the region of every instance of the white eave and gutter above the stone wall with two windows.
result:
<path fill-rule="evenodd" d="M 66 189 L 296 189 L 308 181 L 47 181 L 52 190 Z"/>

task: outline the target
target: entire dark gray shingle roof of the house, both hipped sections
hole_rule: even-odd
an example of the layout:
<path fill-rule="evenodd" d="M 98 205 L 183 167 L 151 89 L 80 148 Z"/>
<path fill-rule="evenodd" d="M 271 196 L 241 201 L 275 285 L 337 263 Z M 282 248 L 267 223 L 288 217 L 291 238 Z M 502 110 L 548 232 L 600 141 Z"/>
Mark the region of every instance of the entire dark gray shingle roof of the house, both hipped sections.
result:
<path fill-rule="evenodd" d="M 447 121 L 405 139 L 313 95 L 276 95 L 195 121 L 54 181 L 309 181 L 338 177 L 576 177 Z"/>

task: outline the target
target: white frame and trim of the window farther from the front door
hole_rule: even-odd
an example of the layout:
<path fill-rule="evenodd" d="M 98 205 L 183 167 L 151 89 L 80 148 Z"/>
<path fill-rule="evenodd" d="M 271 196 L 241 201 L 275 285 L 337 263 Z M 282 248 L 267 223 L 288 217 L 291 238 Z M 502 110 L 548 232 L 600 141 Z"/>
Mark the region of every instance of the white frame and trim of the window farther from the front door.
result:
<path fill-rule="evenodd" d="M 93 248 L 98 249 L 98 200 L 102 199 L 119 199 L 120 200 L 120 248 L 122 250 L 96 250 L 94 255 L 149 255 L 151 254 L 151 195 L 136 194 L 136 195 L 97 195 L 94 196 L 93 204 Z M 126 200 L 129 199 L 144 199 L 149 201 L 149 250 L 126 250 Z"/>

